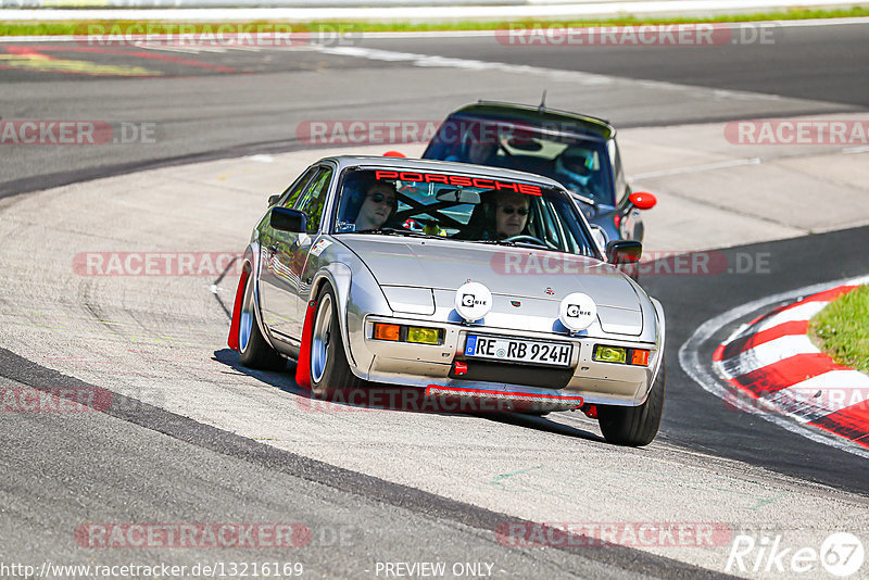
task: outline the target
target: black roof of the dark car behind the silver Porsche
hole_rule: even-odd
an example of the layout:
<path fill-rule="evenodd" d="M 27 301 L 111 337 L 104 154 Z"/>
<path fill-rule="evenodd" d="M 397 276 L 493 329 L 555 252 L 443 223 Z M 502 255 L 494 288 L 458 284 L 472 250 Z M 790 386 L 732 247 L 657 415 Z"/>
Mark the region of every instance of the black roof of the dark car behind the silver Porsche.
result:
<path fill-rule="evenodd" d="M 454 116 L 484 117 L 498 122 L 518 121 L 529 125 L 557 125 L 562 126 L 566 131 L 592 133 L 603 139 L 609 139 L 616 135 L 615 127 L 607 121 L 546 106 L 479 101 L 450 113 L 450 117 Z"/>

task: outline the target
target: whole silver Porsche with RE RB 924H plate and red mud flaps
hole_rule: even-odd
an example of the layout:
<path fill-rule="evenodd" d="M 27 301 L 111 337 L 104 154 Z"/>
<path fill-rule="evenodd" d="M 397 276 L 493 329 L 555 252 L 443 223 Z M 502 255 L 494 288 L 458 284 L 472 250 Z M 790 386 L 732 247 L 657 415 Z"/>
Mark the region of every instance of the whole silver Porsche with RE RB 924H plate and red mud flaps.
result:
<path fill-rule="evenodd" d="M 317 395 L 380 382 L 579 408 L 608 441 L 644 445 L 664 406 L 664 311 L 616 267 L 641 251 L 606 244 L 546 177 L 326 157 L 269 198 L 229 345 L 253 368 L 299 361 Z"/>

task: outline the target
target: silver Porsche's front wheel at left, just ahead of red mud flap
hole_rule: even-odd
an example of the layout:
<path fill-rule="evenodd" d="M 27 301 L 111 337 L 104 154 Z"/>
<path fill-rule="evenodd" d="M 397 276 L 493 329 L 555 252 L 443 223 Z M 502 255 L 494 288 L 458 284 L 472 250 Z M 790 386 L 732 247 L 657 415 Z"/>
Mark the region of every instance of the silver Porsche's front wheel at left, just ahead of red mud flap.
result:
<path fill-rule="evenodd" d="M 338 321 L 338 302 L 329 285 L 317 297 L 317 311 L 311 328 L 311 391 L 327 396 L 336 389 L 357 389 L 365 381 L 350 369 Z"/>

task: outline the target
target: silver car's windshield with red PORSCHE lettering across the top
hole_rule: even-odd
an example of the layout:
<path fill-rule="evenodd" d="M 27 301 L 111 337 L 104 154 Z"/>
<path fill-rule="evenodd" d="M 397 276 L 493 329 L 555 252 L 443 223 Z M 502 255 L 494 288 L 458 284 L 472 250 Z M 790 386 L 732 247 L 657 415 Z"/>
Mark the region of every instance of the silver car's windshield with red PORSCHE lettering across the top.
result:
<path fill-rule="evenodd" d="M 345 169 L 332 231 L 527 245 L 599 257 L 563 190 L 465 174 Z"/>

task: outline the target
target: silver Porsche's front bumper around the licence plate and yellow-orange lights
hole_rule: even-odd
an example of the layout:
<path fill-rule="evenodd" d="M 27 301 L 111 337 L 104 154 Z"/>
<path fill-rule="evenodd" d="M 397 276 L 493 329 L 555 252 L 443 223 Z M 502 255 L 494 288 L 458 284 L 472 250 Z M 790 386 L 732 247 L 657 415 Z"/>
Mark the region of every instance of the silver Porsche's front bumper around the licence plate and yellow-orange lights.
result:
<path fill-rule="evenodd" d="M 438 328 L 443 331 L 441 344 L 417 344 L 383 341 L 373 338 L 375 323 L 403 324 Z M 536 401 L 536 409 L 559 411 L 584 403 L 604 405 L 640 405 L 645 401 L 658 367 L 657 344 L 619 336 L 589 338 L 583 336 L 505 331 L 488 327 L 433 323 L 412 317 L 367 316 L 361 336 L 371 354 L 370 364 L 357 374 L 368 380 L 428 388 L 432 392 L 449 391 L 463 398 L 527 399 Z M 504 338 L 569 342 L 572 344 L 567 367 L 480 361 L 464 354 L 468 332 Z M 638 348 L 651 351 L 647 366 L 601 363 L 592 360 L 595 344 Z M 454 371 L 454 363 L 467 365 L 466 375 Z M 463 395 L 463 393 L 466 393 Z"/>

